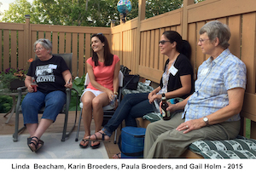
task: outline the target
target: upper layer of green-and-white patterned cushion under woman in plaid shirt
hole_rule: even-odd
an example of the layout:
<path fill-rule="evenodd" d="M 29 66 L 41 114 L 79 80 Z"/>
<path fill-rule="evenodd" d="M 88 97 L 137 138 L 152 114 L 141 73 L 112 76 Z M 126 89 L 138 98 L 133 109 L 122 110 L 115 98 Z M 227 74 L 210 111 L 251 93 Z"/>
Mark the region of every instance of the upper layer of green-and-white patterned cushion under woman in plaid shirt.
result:
<path fill-rule="evenodd" d="M 195 153 L 215 151 L 256 151 L 256 140 L 234 139 L 234 140 L 198 140 L 189 146 L 189 150 Z"/>

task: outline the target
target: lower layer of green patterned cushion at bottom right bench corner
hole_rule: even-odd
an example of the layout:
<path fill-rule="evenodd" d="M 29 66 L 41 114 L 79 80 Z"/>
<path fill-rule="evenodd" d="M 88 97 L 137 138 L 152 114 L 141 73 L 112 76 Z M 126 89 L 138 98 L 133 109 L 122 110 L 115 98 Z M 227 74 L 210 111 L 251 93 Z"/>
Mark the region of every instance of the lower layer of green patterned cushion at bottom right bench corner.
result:
<path fill-rule="evenodd" d="M 241 159 L 241 158 L 248 158 L 248 159 L 255 159 L 256 152 L 253 150 L 239 150 L 239 151 L 217 151 L 217 150 L 210 150 L 201 152 L 201 156 L 203 158 L 211 158 L 211 159 Z"/>

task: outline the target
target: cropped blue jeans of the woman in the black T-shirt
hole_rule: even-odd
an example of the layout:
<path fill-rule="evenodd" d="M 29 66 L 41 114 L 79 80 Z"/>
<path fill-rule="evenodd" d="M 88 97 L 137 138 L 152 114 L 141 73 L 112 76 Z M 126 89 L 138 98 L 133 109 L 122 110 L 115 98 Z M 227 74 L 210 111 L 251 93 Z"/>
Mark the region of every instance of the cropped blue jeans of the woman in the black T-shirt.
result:
<path fill-rule="evenodd" d="M 24 125 L 26 123 L 38 123 L 38 112 L 42 106 L 45 106 L 42 118 L 55 122 L 56 117 L 66 103 L 66 99 L 66 94 L 59 90 L 48 94 L 40 91 L 27 93 L 21 103 Z"/>

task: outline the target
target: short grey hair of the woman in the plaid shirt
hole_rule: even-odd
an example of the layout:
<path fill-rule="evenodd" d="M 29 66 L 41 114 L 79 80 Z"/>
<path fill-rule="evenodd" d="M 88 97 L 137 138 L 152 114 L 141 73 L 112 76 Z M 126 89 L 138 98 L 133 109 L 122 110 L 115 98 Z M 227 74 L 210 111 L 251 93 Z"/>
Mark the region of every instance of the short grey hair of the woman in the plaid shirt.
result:
<path fill-rule="evenodd" d="M 230 46 L 229 40 L 231 37 L 229 26 L 221 23 L 218 20 L 207 22 L 206 25 L 201 27 L 199 34 L 207 33 L 210 41 L 218 37 L 219 45 L 224 49 Z"/>

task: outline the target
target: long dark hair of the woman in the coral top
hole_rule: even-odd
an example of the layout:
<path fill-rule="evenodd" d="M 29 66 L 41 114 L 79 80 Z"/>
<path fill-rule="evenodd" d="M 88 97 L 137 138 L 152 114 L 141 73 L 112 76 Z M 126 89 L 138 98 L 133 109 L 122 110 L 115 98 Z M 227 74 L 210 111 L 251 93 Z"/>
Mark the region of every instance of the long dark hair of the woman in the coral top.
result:
<path fill-rule="evenodd" d="M 111 66 L 113 63 L 113 54 L 110 52 L 108 39 L 102 33 L 93 34 L 92 37 L 98 37 L 102 43 L 104 43 L 104 65 Z M 98 66 L 98 55 L 96 52 L 92 51 L 92 60 L 95 62 L 95 66 Z"/>

